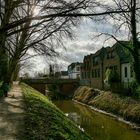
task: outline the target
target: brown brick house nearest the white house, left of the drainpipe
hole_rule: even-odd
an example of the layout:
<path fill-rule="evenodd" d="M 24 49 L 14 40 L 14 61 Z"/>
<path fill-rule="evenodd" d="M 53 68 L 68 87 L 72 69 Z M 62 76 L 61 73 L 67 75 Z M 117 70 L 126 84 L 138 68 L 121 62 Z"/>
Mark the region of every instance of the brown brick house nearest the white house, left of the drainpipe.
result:
<path fill-rule="evenodd" d="M 105 48 L 101 48 L 95 54 L 84 57 L 81 67 L 81 79 L 86 81 L 91 87 L 103 87 L 103 59 Z"/>

